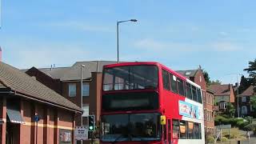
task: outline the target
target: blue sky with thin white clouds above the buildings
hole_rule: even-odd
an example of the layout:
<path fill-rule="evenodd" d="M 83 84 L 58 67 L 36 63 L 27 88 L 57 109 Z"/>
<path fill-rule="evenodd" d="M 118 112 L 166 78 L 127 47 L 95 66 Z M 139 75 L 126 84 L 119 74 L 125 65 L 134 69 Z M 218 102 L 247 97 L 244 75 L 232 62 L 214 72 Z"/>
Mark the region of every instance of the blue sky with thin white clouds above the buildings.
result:
<path fill-rule="evenodd" d="M 236 82 L 256 54 L 254 1 L 2 0 L 3 62 L 20 69 L 76 61 L 162 62 L 174 70 L 207 70 Z M 231 73 L 231 74 L 230 74 Z"/>

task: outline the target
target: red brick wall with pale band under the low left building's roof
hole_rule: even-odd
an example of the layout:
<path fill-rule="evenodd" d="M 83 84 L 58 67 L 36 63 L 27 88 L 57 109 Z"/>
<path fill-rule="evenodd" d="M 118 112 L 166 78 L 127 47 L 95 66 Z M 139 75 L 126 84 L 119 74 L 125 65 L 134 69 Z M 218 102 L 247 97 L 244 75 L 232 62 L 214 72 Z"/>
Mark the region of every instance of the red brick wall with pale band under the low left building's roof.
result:
<path fill-rule="evenodd" d="M 59 130 L 70 131 L 71 140 L 74 140 L 74 112 L 63 110 L 57 107 L 45 105 L 43 103 L 19 99 L 20 112 L 25 124 L 14 124 L 8 122 L 13 127 L 14 143 L 20 144 L 57 144 L 59 142 Z M 6 101 L 14 102 L 13 98 Z M 34 115 L 38 114 L 41 119 L 34 122 Z M 0 98 L 0 118 L 6 118 L 6 102 Z M 0 125 L 0 143 L 6 143 L 6 123 Z"/>

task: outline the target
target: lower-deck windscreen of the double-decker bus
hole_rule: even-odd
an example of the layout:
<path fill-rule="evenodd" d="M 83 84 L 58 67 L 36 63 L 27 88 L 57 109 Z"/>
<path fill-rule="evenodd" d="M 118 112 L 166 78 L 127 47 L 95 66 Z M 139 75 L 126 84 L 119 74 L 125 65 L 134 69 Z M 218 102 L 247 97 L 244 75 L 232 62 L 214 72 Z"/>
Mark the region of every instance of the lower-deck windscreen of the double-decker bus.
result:
<path fill-rule="evenodd" d="M 102 116 L 102 141 L 149 141 L 160 139 L 160 114 Z"/>

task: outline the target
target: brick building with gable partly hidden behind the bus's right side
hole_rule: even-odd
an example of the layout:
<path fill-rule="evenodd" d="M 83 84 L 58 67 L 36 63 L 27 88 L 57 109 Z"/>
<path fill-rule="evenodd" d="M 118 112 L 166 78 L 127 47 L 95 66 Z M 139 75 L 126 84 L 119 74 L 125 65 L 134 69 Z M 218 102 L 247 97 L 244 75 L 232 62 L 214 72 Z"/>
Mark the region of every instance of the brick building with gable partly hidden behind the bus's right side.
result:
<path fill-rule="evenodd" d="M 202 88 L 205 131 L 206 134 L 213 134 L 214 132 L 214 92 L 207 89 L 206 80 L 203 76 L 202 70 L 178 70 L 179 74 L 186 76 L 191 81 L 197 83 Z"/>

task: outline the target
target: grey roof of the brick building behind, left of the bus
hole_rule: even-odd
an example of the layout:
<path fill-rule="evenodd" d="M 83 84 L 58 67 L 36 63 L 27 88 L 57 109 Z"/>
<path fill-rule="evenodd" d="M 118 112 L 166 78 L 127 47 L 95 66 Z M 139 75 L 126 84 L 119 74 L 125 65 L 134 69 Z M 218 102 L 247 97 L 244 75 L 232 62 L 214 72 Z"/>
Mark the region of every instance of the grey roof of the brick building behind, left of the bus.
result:
<path fill-rule="evenodd" d="M 56 67 L 56 68 L 38 68 L 43 73 L 49 75 L 51 78 L 60 79 L 61 81 L 79 80 L 81 78 L 81 65 L 85 67 L 82 70 L 83 79 L 91 78 L 92 72 L 102 72 L 102 67 L 108 64 L 117 63 L 115 61 L 88 61 L 75 62 L 70 67 Z M 22 70 L 26 72 L 26 70 Z"/>

